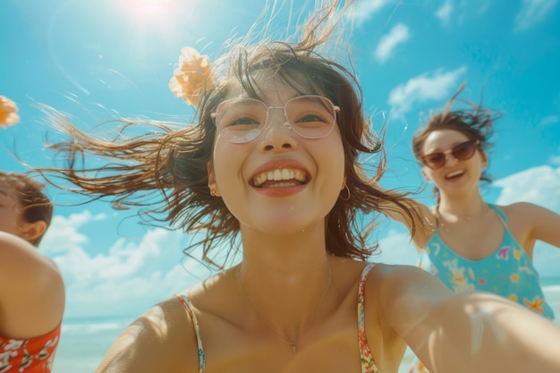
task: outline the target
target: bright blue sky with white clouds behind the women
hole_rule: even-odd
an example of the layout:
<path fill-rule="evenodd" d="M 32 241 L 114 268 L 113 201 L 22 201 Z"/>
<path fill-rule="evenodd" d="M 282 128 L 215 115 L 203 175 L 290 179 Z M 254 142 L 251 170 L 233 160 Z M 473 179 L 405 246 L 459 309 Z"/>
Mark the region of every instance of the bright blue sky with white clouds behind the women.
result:
<path fill-rule="evenodd" d="M 0 95 L 17 103 L 21 123 L 0 129 L 1 168 L 24 170 L 13 153 L 30 165 L 53 165 L 44 140 L 60 134 L 39 104 L 86 131 L 121 117 L 188 123 L 191 107 L 167 87 L 181 48 L 215 59 L 226 38 L 249 29 L 263 4 L 3 0 Z M 289 4 L 270 30 L 289 29 L 287 14 Z M 351 17 L 346 49 L 374 128 L 387 126 L 386 188 L 425 188 L 418 198 L 433 203 L 412 157 L 412 134 L 465 82 L 462 98 L 503 114 L 490 153 L 496 182 L 485 190 L 488 201 L 525 200 L 560 213 L 558 0 L 361 0 Z M 80 200 L 47 193 L 61 205 Z M 376 259 L 415 263 L 400 226 L 379 220 L 374 236 L 383 252 Z M 140 314 L 208 276 L 207 268 L 184 259 L 188 242 L 182 233 L 140 225 L 134 211 L 96 202 L 55 208 L 40 248 L 61 267 L 66 317 L 77 318 Z M 558 276 L 560 250 L 539 243 L 535 263 L 541 276 Z"/>

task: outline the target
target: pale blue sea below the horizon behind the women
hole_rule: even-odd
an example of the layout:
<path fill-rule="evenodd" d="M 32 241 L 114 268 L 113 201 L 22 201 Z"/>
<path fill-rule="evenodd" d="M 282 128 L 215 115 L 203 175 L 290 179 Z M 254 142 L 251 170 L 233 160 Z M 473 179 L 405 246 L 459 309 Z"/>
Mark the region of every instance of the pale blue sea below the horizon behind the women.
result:
<path fill-rule="evenodd" d="M 560 326 L 560 277 L 543 277 L 545 297 L 555 310 L 555 324 Z M 93 373 L 115 339 L 139 315 L 103 318 L 64 318 L 60 346 L 56 352 L 53 373 Z M 404 354 L 405 373 L 412 360 L 410 350 Z"/>

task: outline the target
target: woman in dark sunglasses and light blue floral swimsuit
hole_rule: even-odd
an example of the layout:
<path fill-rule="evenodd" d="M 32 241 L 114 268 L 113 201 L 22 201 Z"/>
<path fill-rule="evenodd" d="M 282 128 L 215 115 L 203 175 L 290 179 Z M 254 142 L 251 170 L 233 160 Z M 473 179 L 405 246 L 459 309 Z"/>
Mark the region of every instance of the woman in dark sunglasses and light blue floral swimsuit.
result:
<path fill-rule="evenodd" d="M 485 168 L 495 118 L 475 105 L 451 110 L 460 92 L 412 139 L 437 201 L 433 208 L 412 202 L 428 223 L 417 224 L 413 235 L 419 266 L 454 292 L 494 292 L 552 319 L 532 255 L 537 240 L 560 247 L 560 216 L 526 202 L 496 206 L 482 199 L 479 183 L 490 182 Z M 415 371 L 427 370 L 416 361 Z"/>

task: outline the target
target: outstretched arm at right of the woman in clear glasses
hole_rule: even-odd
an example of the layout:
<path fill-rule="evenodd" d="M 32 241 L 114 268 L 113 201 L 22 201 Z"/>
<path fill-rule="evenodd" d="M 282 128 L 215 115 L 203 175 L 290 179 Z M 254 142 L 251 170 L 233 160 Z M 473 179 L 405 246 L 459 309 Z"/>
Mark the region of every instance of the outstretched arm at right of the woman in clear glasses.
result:
<path fill-rule="evenodd" d="M 484 292 L 453 293 L 416 267 L 382 272 L 386 320 L 432 373 L 560 371 L 560 328 Z"/>

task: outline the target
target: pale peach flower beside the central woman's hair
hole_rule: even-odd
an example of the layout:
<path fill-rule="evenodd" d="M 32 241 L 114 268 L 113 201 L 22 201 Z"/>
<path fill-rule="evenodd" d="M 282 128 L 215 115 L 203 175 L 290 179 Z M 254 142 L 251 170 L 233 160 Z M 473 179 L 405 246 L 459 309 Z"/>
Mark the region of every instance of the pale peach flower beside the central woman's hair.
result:
<path fill-rule="evenodd" d="M 183 47 L 179 66 L 169 81 L 169 89 L 176 97 L 182 97 L 187 104 L 199 106 L 203 91 L 214 87 L 208 55 L 200 55 L 194 48 Z"/>

